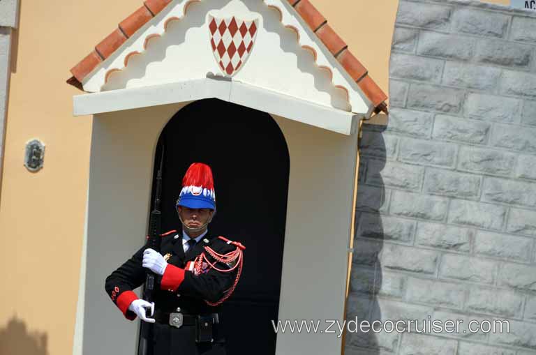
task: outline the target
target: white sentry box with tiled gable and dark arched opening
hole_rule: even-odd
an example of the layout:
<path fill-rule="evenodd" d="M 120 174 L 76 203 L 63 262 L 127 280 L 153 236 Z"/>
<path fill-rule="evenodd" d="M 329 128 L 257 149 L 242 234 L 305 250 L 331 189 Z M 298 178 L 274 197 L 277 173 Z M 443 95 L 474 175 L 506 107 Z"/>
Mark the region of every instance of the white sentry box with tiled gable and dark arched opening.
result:
<path fill-rule="evenodd" d="M 103 284 L 144 243 L 162 156 L 162 232 L 180 230 L 174 201 L 201 161 L 216 187 L 209 229 L 246 246 L 230 347 L 341 352 L 339 337 L 270 322 L 345 318 L 358 130 L 387 112 L 311 3 L 146 1 L 71 72 L 86 92 L 74 114 L 93 115 L 75 354 L 137 351 L 137 322 Z"/>

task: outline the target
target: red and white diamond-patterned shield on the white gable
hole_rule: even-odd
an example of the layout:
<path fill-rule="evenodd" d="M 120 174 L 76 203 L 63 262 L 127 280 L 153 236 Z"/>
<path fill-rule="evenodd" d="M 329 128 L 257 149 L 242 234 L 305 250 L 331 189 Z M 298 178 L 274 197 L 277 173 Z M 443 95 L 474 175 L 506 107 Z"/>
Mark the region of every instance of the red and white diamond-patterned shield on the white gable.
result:
<path fill-rule="evenodd" d="M 223 73 L 232 77 L 248 60 L 257 37 L 259 20 L 209 15 L 210 44 Z"/>

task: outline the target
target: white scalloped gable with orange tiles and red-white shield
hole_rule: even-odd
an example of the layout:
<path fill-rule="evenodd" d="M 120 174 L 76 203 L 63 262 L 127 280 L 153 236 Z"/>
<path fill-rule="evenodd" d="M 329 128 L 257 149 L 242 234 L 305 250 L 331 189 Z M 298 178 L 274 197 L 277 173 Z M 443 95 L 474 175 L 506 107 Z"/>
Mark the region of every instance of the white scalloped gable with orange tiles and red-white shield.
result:
<path fill-rule="evenodd" d="M 365 116 L 386 110 L 308 0 L 146 1 L 71 72 L 88 93 L 210 78 Z"/>

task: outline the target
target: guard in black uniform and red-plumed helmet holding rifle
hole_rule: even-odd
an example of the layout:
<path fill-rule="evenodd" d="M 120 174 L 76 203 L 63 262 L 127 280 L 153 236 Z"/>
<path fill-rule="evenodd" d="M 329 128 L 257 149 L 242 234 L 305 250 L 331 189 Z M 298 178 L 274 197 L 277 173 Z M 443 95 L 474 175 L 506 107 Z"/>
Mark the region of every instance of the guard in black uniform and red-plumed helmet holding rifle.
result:
<path fill-rule="evenodd" d="M 159 252 L 138 250 L 106 278 L 106 292 L 127 319 L 154 323 L 147 354 L 225 355 L 221 303 L 237 286 L 245 248 L 208 232 L 216 212 L 208 165 L 188 168 L 175 207 L 182 230 L 161 234 Z M 154 303 L 133 292 L 149 270 L 156 275 Z"/>

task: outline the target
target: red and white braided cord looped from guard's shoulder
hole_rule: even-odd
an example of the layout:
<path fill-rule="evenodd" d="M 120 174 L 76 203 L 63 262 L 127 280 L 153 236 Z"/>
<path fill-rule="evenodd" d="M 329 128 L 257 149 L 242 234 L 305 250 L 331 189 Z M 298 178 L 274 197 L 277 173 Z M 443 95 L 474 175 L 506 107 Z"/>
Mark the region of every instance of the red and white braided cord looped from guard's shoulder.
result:
<path fill-rule="evenodd" d="M 219 301 L 216 301 L 216 302 L 209 302 L 209 301 L 205 301 L 208 305 L 219 305 L 221 303 L 223 303 L 223 301 L 225 301 L 226 299 L 228 299 L 231 295 L 232 295 L 232 292 L 234 292 L 234 289 L 237 287 L 237 284 L 238 284 L 238 280 L 240 278 L 240 275 L 242 273 L 242 264 L 244 262 L 244 253 L 242 252 L 242 250 L 246 249 L 245 246 L 243 246 L 241 243 L 238 243 L 236 241 L 230 241 L 229 239 L 225 239 L 223 236 L 219 236 L 218 237 L 219 239 L 222 239 L 223 241 L 226 241 L 228 244 L 232 244 L 233 246 L 236 246 L 237 248 L 235 250 L 233 250 L 232 252 L 228 252 L 227 254 L 219 254 L 218 252 L 215 252 L 214 249 L 206 246 L 204 247 L 204 250 L 207 250 L 207 252 L 209 253 L 209 255 L 211 257 L 213 257 L 216 262 L 221 262 L 223 264 L 228 264 L 230 262 L 234 262 L 236 261 L 236 264 L 234 264 L 234 266 L 232 266 L 232 268 L 230 269 L 218 269 L 216 267 L 216 262 L 214 262 L 214 264 L 212 264 L 211 262 L 209 262 L 209 259 L 207 259 L 207 256 L 204 255 L 204 252 L 201 253 L 201 257 L 198 259 L 198 265 L 201 266 L 203 260 L 204 262 L 207 262 L 207 264 L 214 270 L 216 271 L 219 271 L 221 273 L 230 273 L 232 271 L 234 271 L 234 269 L 237 269 L 238 268 L 238 272 L 237 272 L 237 277 L 234 278 L 234 283 L 232 284 L 232 286 L 225 290 L 225 296 L 223 296 L 222 299 L 220 299 Z M 196 266 L 198 266 L 196 265 Z"/>

